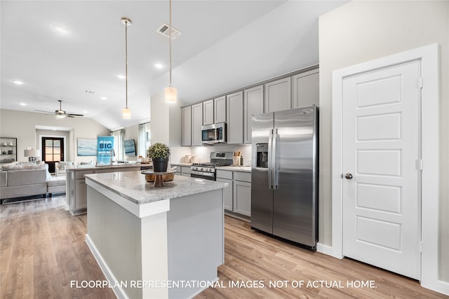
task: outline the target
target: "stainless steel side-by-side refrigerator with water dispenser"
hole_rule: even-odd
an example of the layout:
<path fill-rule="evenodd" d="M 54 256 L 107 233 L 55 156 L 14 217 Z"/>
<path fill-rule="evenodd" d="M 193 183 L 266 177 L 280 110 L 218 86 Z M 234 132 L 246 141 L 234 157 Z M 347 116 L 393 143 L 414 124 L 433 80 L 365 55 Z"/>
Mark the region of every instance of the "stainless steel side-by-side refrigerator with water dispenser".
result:
<path fill-rule="evenodd" d="M 316 249 L 318 109 L 253 116 L 251 227 Z"/>

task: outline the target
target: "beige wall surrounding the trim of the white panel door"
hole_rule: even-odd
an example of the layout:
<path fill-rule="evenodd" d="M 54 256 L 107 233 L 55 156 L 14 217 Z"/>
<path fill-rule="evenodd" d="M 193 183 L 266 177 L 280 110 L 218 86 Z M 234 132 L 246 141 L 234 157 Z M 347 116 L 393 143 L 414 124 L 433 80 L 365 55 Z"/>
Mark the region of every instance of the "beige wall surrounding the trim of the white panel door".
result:
<path fill-rule="evenodd" d="M 328 246 L 332 245 L 332 72 L 431 43 L 441 46 L 438 265 L 440 279 L 449 281 L 449 256 L 443 254 L 449 252 L 449 1 L 352 1 L 321 16 L 319 43 L 319 237 Z"/>

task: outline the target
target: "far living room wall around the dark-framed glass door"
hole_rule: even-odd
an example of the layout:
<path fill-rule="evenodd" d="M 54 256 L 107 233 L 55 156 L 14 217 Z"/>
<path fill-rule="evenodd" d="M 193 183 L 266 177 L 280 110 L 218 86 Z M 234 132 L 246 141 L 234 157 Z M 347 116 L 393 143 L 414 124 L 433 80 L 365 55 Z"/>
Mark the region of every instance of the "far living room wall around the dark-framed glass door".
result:
<path fill-rule="evenodd" d="M 96 157 L 78 157 L 76 155 L 76 140 L 78 138 L 97 138 L 109 135 L 109 130 L 91 118 L 63 118 L 55 119 L 43 113 L 23 112 L 0 109 L 0 136 L 16 137 L 18 143 L 18 160 L 27 161 L 23 156 L 23 149 L 27 146 L 39 148 L 39 134 L 36 125 L 48 127 L 64 127 L 69 130 L 67 142 L 67 156 L 65 160 L 76 162 L 96 160 Z M 48 131 L 41 131 L 48 132 Z M 53 132 L 53 136 L 67 136 L 67 132 Z"/>

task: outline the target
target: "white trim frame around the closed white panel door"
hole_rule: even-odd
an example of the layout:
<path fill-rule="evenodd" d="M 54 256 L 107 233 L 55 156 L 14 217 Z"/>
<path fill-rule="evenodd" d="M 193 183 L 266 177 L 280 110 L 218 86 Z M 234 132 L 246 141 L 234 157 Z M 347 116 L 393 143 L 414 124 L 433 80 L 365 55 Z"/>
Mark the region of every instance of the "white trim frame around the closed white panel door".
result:
<path fill-rule="evenodd" d="M 343 79 L 366 71 L 421 60 L 422 106 L 422 194 L 421 194 L 421 286 L 441 291 L 447 286 L 438 281 L 438 202 L 439 202 L 439 51 L 438 44 L 408 50 L 403 53 L 363 62 L 333 71 L 333 132 L 332 132 L 332 249 L 330 254 L 343 258 L 342 201 L 342 90 Z"/>

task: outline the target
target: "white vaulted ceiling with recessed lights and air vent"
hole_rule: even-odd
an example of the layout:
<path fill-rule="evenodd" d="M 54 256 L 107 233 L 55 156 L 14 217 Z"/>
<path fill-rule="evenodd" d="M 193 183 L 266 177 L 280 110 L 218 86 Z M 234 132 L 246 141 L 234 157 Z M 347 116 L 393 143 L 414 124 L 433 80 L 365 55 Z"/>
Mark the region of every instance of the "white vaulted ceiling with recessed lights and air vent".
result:
<path fill-rule="evenodd" d="M 173 1 L 173 27 L 182 32 L 173 41 L 178 99 L 196 102 L 318 64 L 318 17 L 346 2 Z M 168 1 L 2 0 L 0 8 L 1 109 L 55 111 L 61 99 L 62 110 L 109 129 L 149 119 L 150 97 L 168 85 L 169 41 L 156 32 L 169 22 Z M 133 22 L 131 120 L 121 118 L 125 80 L 117 77 L 125 74 L 123 17 Z"/>

